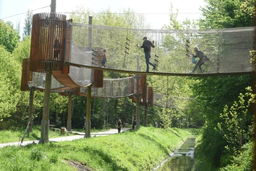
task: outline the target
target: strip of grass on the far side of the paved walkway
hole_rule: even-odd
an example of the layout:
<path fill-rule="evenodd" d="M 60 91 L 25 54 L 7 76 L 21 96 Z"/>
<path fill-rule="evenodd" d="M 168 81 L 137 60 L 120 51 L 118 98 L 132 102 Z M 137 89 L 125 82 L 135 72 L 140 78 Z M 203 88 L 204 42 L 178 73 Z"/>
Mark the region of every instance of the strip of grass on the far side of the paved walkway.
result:
<path fill-rule="evenodd" d="M 80 132 L 84 132 L 84 129 L 76 129 Z M 25 128 L 20 131 L 8 131 L 8 130 L 0 130 L 0 143 L 10 143 L 10 142 L 18 142 L 21 141 L 24 135 Z M 99 132 L 99 131 L 106 131 L 106 129 L 91 129 L 91 132 Z M 61 135 L 59 130 L 51 131 L 49 130 L 49 138 L 56 138 L 56 137 L 64 137 L 72 135 L 68 132 L 65 132 L 65 135 Z M 32 140 L 39 140 L 41 137 L 40 127 L 34 126 L 32 132 L 28 135 L 26 134 L 24 137 L 24 141 L 32 141 Z"/>

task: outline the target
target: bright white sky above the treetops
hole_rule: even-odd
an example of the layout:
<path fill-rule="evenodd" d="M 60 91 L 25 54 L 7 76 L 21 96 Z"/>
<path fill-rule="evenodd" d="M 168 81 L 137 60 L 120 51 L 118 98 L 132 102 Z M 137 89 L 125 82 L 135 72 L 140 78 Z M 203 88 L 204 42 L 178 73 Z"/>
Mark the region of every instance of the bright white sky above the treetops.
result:
<path fill-rule="evenodd" d="M 15 29 L 16 22 L 20 20 L 20 36 L 22 36 L 26 18 L 26 13 L 24 12 L 27 12 L 28 9 L 30 11 L 35 10 L 32 11 L 33 14 L 50 12 L 50 7 L 43 8 L 49 6 L 50 3 L 51 0 L 0 0 L 0 19 L 3 19 L 4 22 L 11 21 Z M 174 12 L 178 9 L 178 20 L 180 21 L 185 18 L 190 20 L 200 18 L 201 11 L 199 8 L 205 5 L 204 0 L 152 0 L 151 2 L 148 0 L 56 0 L 56 12 L 72 12 L 72 10 L 76 9 L 76 6 L 81 5 L 84 8 L 90 8 L 95 13 L 108 8 L 110 8 L 111 12 L 120 12 L 123 8 L 130 7 L 136 13 L 143 13 L 146 16 L 151 29 L 160 30 L 164 24 L 169 24 L 170 22 L 170 3 L 173 4 Z M 36 10 L 38 8 L 43 9 Z M 69 18 L 69 14 L 66 14 L 66 16 Z"/>

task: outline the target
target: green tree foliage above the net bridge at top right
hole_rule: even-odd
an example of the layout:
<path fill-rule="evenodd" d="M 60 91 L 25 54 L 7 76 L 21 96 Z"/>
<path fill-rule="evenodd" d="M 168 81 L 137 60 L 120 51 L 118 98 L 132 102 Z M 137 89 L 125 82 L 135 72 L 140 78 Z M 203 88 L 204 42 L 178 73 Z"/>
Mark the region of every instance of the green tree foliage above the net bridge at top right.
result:
<path fill-rule="evenodd" d="M 202 29 L 237 28 L 252 26 L 255 16 L 255 0 L 205 0 L 202 8 Z"/>

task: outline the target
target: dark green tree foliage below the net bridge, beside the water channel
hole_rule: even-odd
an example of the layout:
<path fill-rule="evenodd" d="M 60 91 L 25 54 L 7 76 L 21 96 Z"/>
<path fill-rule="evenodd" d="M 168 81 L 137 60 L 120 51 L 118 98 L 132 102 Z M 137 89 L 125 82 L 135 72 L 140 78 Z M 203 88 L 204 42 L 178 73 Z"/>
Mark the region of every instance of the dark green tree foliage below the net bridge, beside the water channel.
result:
<path fill-rule="evenodd" d="M 221 122 L 220 113 L 225 105 L 231 106 L 233 101 L 238 101 L 240 93 L 246 93 L 246 87 L 252 86 L 252 77 L 244 75 L 192 79 L 195 81 L 190 86 L 196 100 L 192 105 L 196 106 L 197 111 L 206 119 L 202 141 L 196 147 L 197 154 L 201 155 L 196 154 L 196 167 L 202 170 L 217 168 L 221 156 L 226 152 L 226 140 L 214 128 Z"/>

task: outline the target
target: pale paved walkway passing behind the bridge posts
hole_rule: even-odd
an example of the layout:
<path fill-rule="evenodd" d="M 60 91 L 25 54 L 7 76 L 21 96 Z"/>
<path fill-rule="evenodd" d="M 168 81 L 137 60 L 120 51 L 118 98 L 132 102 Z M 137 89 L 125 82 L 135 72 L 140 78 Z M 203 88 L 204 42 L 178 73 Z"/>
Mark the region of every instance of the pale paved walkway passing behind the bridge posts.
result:
<path fill-rule="evenodd" d="M 131 128 L 121 128 L 121 133 L 124 131 L 128 131 Z M 72 133 L 76 133 L 78 135 L 73 135 L 73 136 L 65 136 L 65 137 L 57 137 L 57 138 L 49 138 L 50 142 L 59 142 L 59 141 L 72 141 L 74 139 L 81 139 L 84 138 L 85 133 L 83 132 L 77 132 L 77 131 L 72 131 Z M 108 131 L 101 131 L 101 132 L 95 132 L 95 133 L 91 133 L 91 137 L 94 136 L 105 136 L 105 135 L 111 135 L 111 134 L 117 134 L 118 131 L 117 129 L 110 129 Z M 23 141 L 23 143 L 21 145 L 27 145 L 27 144 L 31 144 L 31 143 L 38 143 L 39 140 L 31 140 L 31 141 Z M 20 145 L 20 142 L 12 142 L 12 143 L 2 143 L 0 144 L 0 148 L 8 146 L 8 145 Z"/>

